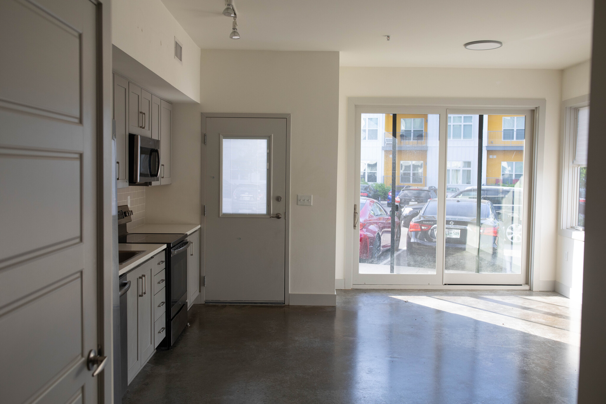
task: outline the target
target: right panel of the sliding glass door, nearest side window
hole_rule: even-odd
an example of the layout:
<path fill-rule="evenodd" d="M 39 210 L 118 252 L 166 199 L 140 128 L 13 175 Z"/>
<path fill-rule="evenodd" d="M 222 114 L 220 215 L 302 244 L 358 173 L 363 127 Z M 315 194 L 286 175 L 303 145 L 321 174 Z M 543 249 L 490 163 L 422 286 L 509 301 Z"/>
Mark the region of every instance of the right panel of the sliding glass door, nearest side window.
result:
<path fill-rule="evenodd" d="M 532 111 L 448 110 L 445 284 L 527 283 Z"/>

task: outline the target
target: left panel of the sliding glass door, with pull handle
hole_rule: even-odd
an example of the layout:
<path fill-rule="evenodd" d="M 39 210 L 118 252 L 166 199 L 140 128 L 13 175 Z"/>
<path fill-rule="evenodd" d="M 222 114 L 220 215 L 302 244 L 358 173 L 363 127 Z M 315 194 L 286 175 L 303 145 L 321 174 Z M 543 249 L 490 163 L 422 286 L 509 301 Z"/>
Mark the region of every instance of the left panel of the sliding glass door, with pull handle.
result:
<path fill-rule="evenodd" d="M 353 283 L 442 283 L 438 216 L 410 224 L 429 201 L 438 204 L 444 122 L 445 110 L 427 108 L 361 114 Z"/>

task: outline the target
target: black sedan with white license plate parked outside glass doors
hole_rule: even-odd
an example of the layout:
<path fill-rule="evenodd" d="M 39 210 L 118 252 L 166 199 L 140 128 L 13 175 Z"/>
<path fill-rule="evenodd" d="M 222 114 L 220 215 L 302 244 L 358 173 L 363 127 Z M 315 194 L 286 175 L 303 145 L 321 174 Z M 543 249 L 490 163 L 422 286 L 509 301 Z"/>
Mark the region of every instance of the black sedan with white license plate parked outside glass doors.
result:
<path fill-rule="evenodd" d="M 446 199 L 446 254 L 473 257 L 479 247 L 481 258 L 496 263 L 501 222 L 490 201 L 482 200 L 478 243 L 478 233 L 474 231 L 476 213 L 475 199 Z M 435 260 L 437 223 L 438 199 L 432 199 L 408 225 L 408 267 L 420 267 L 427 260 Z"/>

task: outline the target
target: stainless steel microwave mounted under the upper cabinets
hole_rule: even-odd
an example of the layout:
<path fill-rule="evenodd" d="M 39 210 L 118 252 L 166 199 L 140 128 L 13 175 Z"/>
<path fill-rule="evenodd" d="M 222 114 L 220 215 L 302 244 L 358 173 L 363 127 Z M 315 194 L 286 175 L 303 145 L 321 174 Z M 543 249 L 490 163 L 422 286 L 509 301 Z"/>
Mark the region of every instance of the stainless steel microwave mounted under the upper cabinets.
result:
<path fill-rule="evenodd" d="M 128 134 L 128 185 L 151 185 L 160 180 L 160 141 Z"/>

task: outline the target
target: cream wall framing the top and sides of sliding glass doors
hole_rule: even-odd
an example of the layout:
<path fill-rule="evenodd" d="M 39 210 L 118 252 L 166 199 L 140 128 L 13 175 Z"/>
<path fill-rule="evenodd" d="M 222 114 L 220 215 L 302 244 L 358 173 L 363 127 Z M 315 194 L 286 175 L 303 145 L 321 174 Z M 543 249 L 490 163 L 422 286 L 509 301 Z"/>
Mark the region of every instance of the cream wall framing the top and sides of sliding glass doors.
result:
<path fill-rule="evenodd" d="M 545 149 L 542 215 L 541 290 L 553 290 L 558 214 L 559 118 L 561 70 L 421 67 L 341 67 L 339 77 L 338 220 L 345 224 L 345 172 L 348 97 L 544 98 Z M 337 250 L 345 251 L 345 225 L 338 229 Z M 344 259 L 338 259 L 344 262 Z M 336 278 L 345 274 L 336 268 Z"/>

